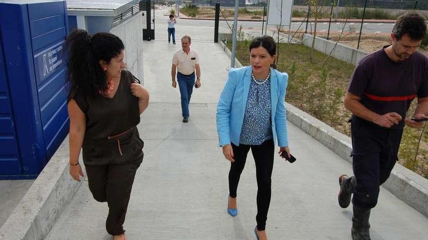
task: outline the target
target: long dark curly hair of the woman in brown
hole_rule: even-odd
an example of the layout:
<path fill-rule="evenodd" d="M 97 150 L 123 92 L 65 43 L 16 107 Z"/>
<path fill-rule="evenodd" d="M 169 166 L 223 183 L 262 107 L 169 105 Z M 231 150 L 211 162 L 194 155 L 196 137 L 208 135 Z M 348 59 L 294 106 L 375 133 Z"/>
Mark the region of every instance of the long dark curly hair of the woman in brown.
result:
<path fill-rule="evenodd" d="M 109 64 L 123 49 L 122 40 L 111 33 L 100 32 L 91 36 L 81 29 L 70 32 L 66 40 L 69 99 L 71 90 L 78 89 L 85 96 L 95 96 L 98 90 L 106 89 L 107 76 L 99 61 Z"/>

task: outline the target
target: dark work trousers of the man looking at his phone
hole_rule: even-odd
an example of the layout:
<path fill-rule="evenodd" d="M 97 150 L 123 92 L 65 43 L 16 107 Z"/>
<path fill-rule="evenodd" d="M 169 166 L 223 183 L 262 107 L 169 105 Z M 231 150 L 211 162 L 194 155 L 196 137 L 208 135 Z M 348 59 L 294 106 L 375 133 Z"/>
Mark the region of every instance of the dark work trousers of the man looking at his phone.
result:
<path fill-rule="evenodd" d="M 398 160 L 398 148 L 403 129 L 380 128 L 353 116 L 352 167 L 356 177 L 352 189 L 352 203 L 362 208 L 374 208 L 379 196 L 379 187 L 390 176 Z M 346 185 L 352 181 L 346 181 Z"/>

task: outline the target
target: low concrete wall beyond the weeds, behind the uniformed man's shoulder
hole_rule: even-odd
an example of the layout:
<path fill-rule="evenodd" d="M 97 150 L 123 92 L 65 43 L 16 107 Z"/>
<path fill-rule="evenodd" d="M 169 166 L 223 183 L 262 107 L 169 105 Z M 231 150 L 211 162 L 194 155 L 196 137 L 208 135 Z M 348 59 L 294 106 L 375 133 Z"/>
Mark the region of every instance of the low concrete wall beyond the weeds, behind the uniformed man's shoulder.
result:
<path fill-rule="evenodd" d="M 314 37 L 310 34 L 303 34 L 303 44 L 309 48 L 312 47 L 312 39 Z M 336 42 L 328 41 L 321 37 L 315 38 L 315 46 L 314 48 L 317 51 L 323 52 L 325 54 L 330 54 L 331 50 L 334 48 Z M 338 43 L 333 53 L 332 57 L 344 61 L 346 63 L 357 65 L 358 61 L 367 55 L 367 52 L 357 50 L 355 48 L 348 47 L 346 45 L 342 45 Z"/>

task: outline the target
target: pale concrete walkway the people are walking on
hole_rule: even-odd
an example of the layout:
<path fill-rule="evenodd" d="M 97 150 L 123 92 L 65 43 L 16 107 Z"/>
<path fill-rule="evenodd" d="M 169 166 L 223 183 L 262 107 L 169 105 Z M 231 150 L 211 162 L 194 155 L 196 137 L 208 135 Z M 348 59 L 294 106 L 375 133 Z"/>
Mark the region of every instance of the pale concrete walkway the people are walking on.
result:
<path fill-rule="evenodd" d="M 186 34 L 203 38 L 197 26 Z M 184 32 L 184 30 L 181 30 Z M 166 36 L 163 36 L 165 38 Z M 165 39 L 144 42 L 144 84 L 150 105 L 138 126 L 145 142 L 125 221 L 128 240 L 252 240 L 256 215 L 255 165 L 249 154 L 238 188 L 239 214 L 226 211 L 229 162 L 217 146 L 216 103 L 230 59 L 217 44 L 194 41 L 201 58 L 189 123 L 181 122 L 179 91 L 171 87 L 171 59 L 180 45 Z M 178 42 L 179 43 L 179 42 Z M 338 176 L 351 165 L 288 124 L 298 160 L 275 158 L 267 221 L 271 240 L 350 239 L 352 208 L 337 203 Z M 46 240 L 110 240 L 107 204 L 96 202 L 87 180 L 64 209 Z M 373 240 L 427 239 L 428 219 L 381 188 L 372 211 Z"/>

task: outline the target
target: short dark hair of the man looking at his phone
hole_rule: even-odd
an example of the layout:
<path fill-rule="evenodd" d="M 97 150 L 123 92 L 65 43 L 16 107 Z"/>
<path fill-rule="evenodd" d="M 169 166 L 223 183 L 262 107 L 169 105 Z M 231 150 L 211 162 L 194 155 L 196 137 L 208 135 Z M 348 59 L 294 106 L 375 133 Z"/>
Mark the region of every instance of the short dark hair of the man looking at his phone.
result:
<path fill-rule="evenodd" d="M 405 34 L 408 34 L 413 41 L 422 40 L 427 33 L 426 19 L 416 13 L 399 16 L 392 28 L 392 33 L 397 40 Z"/>

